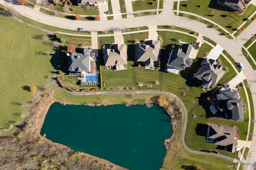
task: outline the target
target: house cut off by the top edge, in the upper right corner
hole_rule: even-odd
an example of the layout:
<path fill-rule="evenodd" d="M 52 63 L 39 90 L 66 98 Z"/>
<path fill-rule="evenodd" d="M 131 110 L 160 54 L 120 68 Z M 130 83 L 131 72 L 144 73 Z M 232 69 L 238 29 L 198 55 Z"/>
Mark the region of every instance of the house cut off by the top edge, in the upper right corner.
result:
<path fill-rule="evenodd" d="M 227 6 L 232 10 L 242 12 L 248 6 L 251 0 L 218 0 L 217 3 Z"/>

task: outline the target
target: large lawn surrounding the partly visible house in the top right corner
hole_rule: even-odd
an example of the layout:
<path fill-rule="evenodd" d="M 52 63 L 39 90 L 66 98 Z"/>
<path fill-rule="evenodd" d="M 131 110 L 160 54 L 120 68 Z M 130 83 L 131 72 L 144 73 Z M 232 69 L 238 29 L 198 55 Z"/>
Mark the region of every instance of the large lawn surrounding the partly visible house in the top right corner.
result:
<path fill-rule="evenodd" d="M 217 0 L 180 1 L 180 11 L 192 12 L 193 14 L 206 17 L 232 33 L 256 10 L 256 6 L 250 4 L 246 12 L 242 16 L 238 16 L 236 12 L 230 11 L 228 8 L 220 6 L 216 2 Z M 188 4 L 188 7 L 182 6 L 184 4 Z M 202 7 L 197 7 L 199 5 Z"/>

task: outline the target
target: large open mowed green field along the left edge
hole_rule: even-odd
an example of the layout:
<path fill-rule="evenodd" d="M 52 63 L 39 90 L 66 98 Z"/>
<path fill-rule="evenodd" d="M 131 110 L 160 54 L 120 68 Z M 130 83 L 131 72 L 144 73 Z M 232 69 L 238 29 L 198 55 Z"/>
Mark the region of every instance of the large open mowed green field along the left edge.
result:
<path fill-rule="evenodd" d="M 42 40 L 46 34 L 10 17 L 0 15 L 0 42 L 2 54 L 0 60 L 0 135 L 12 133 L 16 125 L 22 123 L 34 94 L 22 89 L 22 86 L 43 86 L 51 81 L 53 70 L 50 63 L 52 53 L 50 40 Z M 14 127 L 9 131 L 11 124 Z"/>

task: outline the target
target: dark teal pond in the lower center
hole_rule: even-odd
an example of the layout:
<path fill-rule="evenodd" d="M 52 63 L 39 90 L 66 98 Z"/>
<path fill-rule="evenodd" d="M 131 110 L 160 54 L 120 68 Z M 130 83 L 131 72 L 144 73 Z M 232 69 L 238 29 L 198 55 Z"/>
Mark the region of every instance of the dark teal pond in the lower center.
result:
<path fill-rule="evenodd" d="M 53 142 L 130 170 L 158 170 L 172 126 L 158 105 L 91 107 L 56 102 L 46 115 L 44 133 Z"/>

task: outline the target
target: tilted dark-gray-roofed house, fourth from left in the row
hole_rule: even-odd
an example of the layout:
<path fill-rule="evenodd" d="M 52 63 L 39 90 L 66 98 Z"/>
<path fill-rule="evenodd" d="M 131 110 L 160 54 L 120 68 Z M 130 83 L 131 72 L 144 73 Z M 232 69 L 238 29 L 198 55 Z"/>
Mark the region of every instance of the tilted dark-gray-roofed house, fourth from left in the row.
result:
<path fill-rule="evenodd" d="M 192 44 L 181 44 L 178 47 L 171 49 L 165 70 L 167 72 L 172 72 L 170 71 L 171 69 L 185 70 L 186 67 L 190 67 L 193 63 L 193 59 L 188 58 L 191 49 Z"/>

